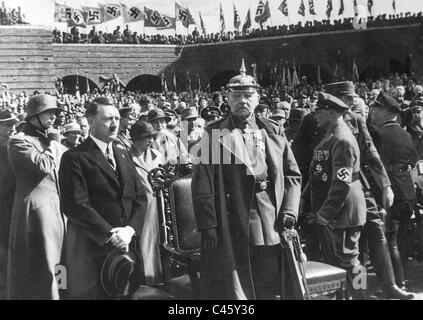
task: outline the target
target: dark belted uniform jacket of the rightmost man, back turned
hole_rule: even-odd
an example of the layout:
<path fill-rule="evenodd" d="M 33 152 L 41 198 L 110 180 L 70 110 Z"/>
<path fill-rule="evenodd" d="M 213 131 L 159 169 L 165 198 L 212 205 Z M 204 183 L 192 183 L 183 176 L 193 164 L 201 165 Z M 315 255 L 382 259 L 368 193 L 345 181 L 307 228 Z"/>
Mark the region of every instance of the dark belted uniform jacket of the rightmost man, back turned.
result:
<path fill-rule="evenodd" d="M 394 201 L 415 199 L 410 171 L 395 168 L 414 166 L 418 160 L 411 135 L 398 122 L 388 121 L 374 132 L 374 141 L 391 180 Z"/>

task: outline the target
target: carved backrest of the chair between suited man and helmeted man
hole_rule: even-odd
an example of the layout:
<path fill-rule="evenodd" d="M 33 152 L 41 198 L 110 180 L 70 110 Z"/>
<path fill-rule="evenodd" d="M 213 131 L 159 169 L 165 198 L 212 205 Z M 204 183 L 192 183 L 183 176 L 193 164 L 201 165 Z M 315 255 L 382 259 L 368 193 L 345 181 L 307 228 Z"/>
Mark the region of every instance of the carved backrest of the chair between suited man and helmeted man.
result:
<path fill-rule="evenodd" d="M 159 204 L 161 242 L 184 256 L 200 253 L 191 195 L 192 175 L 186 165 L 165 165 L 148 176 Z"/>

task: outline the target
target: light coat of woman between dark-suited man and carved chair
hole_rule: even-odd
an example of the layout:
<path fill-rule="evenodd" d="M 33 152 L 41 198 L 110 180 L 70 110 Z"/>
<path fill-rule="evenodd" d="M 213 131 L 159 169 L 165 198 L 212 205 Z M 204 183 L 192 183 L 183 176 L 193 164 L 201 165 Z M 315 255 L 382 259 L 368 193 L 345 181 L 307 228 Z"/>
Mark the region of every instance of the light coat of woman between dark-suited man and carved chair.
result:
<path fill-rule="evenodd" d="M 154 197 L 153 189 L 148 181 L 148 173 L 152 169 L 157 168 L 159 164 L 163 164 L 163 157 L 160 152 L 151 148 L 148 148 L 140 156 L 135 156 L 133 152 L 131 153 L 141 185 L 145 188 L 147 194 L 147 211 L 140 237 L 145 284 L 155 285 L 163 281 L 160 259 L 159 213 L 157 198 Z"/>

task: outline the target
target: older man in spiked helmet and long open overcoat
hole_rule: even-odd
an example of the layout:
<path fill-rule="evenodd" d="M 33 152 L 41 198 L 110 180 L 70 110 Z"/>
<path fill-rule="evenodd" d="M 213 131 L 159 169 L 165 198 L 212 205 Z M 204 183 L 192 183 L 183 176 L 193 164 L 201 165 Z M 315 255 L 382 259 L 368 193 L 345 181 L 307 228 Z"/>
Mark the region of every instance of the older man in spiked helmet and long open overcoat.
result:
<path fill-rule="evenodd" d="M 206 128 L 194 159 L 202 299 L 285 297 L 292 280 L 281 275 L 280 232 L 296 221 L 301 174 L 282 128 L 254 115 L 259 85 L 240 71 L 227 86 L 230 112 Z"/>

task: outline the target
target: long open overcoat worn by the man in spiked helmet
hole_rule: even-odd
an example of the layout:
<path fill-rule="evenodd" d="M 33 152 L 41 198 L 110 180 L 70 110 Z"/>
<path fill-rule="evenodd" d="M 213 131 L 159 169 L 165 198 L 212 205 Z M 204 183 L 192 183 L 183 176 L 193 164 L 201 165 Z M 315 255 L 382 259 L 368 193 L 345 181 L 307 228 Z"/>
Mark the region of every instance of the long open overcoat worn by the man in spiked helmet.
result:
<path fill-rule="evenodd" d="M 298 215 L 301 174 L 282 128 L 266 119 L 256 118 L 256 123 L 265 140 L 268 178 L 274 186 L 278 214 L 275 228 L 279 228 L 283 215 Z M 249 253 L 255 178 L 246 174 L 251 163 L 243 156 L 247 151 L 242 135 L 234 129 L 230 116 L 210 124 L 200 143 L 201 162 L 193 168 L 191 190 L 197 228 L 216 228 L 218 236 L 215 249 L 201 252 L 202 299 L 256 298 Z M 219 130 L 217 140 L 213 130 Z M 217 154 L 221 157 L 215 158 Z M 224 154 L 237 161 L 227 164 Z"/>

